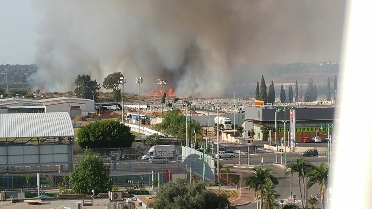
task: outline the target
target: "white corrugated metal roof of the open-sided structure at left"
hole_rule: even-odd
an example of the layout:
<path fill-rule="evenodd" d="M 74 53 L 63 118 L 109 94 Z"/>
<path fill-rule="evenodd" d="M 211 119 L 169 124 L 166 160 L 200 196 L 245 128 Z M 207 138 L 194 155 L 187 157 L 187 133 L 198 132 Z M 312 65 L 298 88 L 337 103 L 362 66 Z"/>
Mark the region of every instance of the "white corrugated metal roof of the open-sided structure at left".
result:
<path fill-rule="evenodd" d="M 0 138 L 74 136 L 67 112 L 0 114 Z"/>

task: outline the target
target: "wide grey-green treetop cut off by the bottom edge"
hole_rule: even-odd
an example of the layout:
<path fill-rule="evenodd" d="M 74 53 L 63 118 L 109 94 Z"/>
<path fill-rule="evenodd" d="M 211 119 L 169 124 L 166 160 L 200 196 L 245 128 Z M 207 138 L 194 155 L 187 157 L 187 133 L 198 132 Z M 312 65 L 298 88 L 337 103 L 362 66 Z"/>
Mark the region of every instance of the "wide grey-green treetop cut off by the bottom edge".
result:
<path fill-rule="evenodd" d="M 181 179 L 177 180 L 176 183 L 170 182 L 161 187 L 155 201 L 149 206 L 164 209 L 235 208 L 230 205 L 227 196 L 206 189 L 202 181 L 186 184 L 186 181 Z"/>

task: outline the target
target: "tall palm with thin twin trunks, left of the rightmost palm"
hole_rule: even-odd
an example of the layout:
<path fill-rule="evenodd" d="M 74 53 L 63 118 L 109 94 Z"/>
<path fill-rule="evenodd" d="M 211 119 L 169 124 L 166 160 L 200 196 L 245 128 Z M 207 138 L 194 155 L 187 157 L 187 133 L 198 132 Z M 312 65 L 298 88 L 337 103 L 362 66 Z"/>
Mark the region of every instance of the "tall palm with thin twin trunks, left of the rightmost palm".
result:
<path fill-rule="evenodd" d="M 304 195 L 305 195 L 305 177 L 306 173 L 311 170 L 313 166 L 309 163 L 309 161 L 303 157 L 296 159 L 295 162 L 289 164 L 286 166 L 286 176 L 291 174 L 297 174 L 298 176 L 298 186 L 300 189 L 300 197 L 301 197 L 301 206 L 302 208 L 305 208 L 306 202 L 304 201 Z M 301 190 L 301 180 L 302 180 L 302 186 L 303 186 L 303 193 Z"/>

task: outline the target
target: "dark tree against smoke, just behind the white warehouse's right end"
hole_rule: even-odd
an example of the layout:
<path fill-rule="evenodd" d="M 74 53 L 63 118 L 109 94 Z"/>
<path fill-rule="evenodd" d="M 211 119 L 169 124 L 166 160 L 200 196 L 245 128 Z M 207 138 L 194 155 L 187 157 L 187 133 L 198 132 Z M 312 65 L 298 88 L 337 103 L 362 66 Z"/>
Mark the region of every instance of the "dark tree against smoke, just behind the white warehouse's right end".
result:
<path fill-rule="evenodd" d="M 101 89 L 101 84 L 98 84 L 96 80 L 91 80 L 90 75 L 78 75 L 75 79 L 75 90 L 77 97 L 85 99 L 97 99 L 99 96 L 98 90 Z"/>

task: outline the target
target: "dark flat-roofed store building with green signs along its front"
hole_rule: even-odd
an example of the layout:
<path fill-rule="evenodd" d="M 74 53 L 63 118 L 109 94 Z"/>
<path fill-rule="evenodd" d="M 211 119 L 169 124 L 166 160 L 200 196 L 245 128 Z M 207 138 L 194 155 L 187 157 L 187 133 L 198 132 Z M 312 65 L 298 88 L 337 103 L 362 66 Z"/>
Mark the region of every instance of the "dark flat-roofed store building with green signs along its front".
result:
<path fill-rule="evenodd" d="M 306 106 L 306 107 L 285 107 L 285 106 L 265 106 L 265 107 L 245 107 L 244 127 L 246 130 L 252 130 L 255 134 L 251 136 L 254 140 L 264 139 L 262 128 L 271 130 L 274 140 L 275 133 L 278 138 L 288 136 L 290 132 L 290 116 L 289 112 L 294 109 L 296 112 L 295 118 L 295 140 L 299 141 L 302 137 L 313 137 L 318 133 L 324 139 L 328 134 L 332 134 L 333 120 L 335 107 L 332 106 Z M 285 110 L 285 112 L 284 112 Z M 277 128 L 275 126 L 277 122 Z M 284 129 L 284 122 L 286 128 Z M 329 129 L 329 130 L 328 130 Z M 270 137 L 270 136 L 267 136 Z"/>

